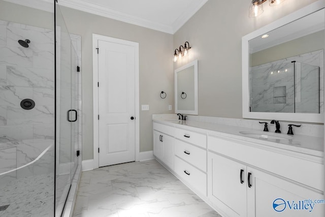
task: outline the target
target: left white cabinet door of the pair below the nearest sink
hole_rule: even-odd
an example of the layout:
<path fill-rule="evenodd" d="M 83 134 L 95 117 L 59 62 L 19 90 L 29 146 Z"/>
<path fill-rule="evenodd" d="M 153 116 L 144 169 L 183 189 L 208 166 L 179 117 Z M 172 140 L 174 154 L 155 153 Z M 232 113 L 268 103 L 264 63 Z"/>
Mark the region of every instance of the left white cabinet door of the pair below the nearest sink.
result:
<path fill-rule="evenodd" d="M 209 199 L 228 216 L 246 216 L 246 166 L 212 152 L 208 164 Z"/>

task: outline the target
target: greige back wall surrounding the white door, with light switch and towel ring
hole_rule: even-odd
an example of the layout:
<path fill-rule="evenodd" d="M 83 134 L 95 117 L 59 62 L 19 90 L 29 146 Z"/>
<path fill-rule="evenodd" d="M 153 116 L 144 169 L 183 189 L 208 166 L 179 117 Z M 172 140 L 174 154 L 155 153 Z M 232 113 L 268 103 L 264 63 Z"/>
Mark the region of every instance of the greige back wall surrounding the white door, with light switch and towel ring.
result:
<path fill-rule="evenodd" d="M 139 43 L 140 52 L 140 151 L 152 150 L 152 114 L 172 113 L 174 108 L 173 35 L 113 19 L 61 7 L 69 32 L 82 38 L 82 160 L 93 157 L 92 34 Z M 161 90 L 167 93 L 161 99 Z M 149 111 L 141 111 L 148 104 Z"/>

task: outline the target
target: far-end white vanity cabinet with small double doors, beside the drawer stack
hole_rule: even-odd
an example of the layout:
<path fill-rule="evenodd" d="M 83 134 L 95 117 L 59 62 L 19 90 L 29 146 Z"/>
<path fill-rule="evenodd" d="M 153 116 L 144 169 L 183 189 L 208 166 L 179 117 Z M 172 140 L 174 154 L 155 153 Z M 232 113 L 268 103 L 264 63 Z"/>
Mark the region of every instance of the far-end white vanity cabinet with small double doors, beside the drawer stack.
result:
<path fill-rule="evenodd" d="M 153 123 L 153 155 L 174 169 L 174 128 Z"/>

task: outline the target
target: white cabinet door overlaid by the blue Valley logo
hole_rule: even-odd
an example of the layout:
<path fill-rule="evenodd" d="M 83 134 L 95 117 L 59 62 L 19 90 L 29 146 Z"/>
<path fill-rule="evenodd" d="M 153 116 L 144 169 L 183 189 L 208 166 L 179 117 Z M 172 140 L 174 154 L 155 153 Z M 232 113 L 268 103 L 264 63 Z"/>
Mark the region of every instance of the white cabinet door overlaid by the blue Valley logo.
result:
<path fill-rule="evenodd" d="M 313 203 L 323 199 L 316 190 L 249 167 L 247 171 L 251 174 L 251 187 L 247 188 L 248 216 L 324 216 L 324 204 Z"/>

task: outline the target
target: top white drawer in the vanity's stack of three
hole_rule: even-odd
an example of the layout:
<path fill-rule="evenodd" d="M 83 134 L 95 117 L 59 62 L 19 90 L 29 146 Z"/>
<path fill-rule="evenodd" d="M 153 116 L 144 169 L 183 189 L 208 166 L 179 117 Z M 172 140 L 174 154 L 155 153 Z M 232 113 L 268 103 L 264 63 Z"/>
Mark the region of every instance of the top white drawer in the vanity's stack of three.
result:
<path fill-rule="evenodd" d="M 207 134 L 175 128 L 175 138 L 207 148 Z"/>

